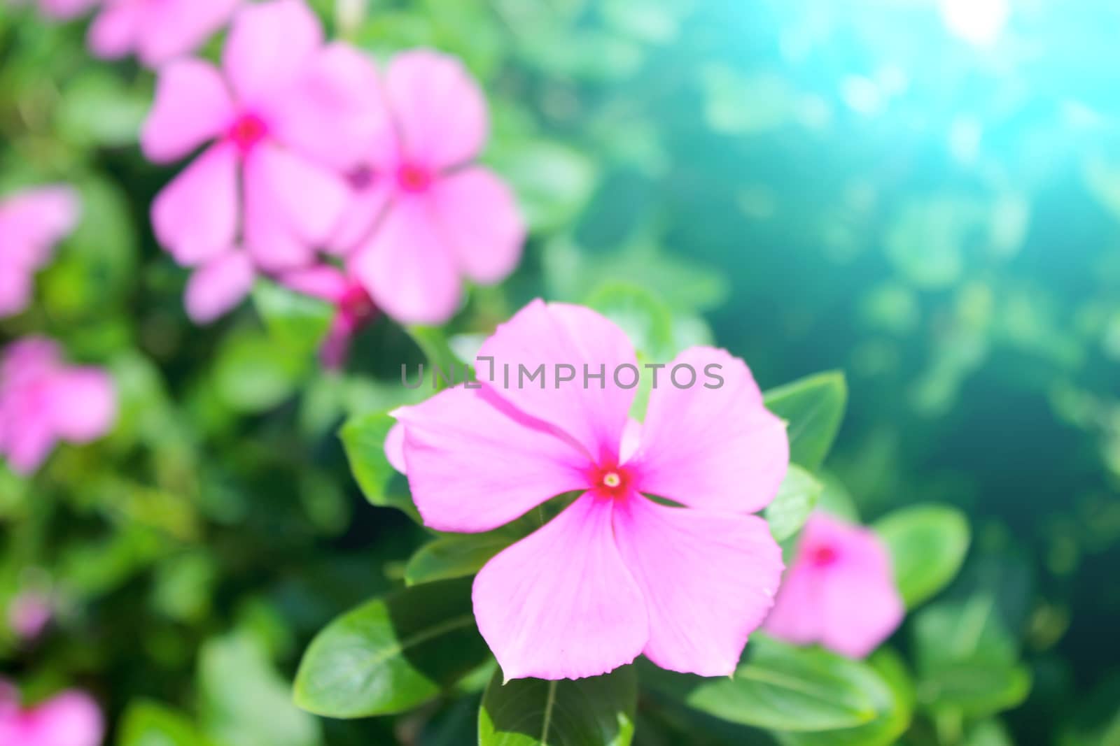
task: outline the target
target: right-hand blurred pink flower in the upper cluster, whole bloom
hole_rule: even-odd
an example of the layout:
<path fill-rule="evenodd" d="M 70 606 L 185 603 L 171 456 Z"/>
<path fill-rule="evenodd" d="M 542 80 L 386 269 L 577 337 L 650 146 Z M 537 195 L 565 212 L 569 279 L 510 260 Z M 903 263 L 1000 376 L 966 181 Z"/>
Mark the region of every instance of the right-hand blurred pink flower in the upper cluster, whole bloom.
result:
<path fill-rule="evenodd" d="M 486 100 L 458 60 L 398 55 L 385 72 L 388 117 L 352 171 L 357 191 L 335 240 L 379 308 L 404 323 L 442 323 L 463 277 L 496 283 L 516 267 L 525 226 L 512 192 L 473 160 Z"/>

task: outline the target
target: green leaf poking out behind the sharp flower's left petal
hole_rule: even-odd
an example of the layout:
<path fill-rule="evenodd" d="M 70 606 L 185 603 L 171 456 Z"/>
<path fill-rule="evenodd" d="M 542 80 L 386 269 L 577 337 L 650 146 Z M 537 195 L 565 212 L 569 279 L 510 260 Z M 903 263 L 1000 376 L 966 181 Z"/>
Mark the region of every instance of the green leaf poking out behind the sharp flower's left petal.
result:
<path fill-rule="evenodd" d="M 365 499 L 383 508 L 399 508 L 418 518 L 408 480 L 393 469 L 385 456 L 385 436 L 396 424 L 385 413 L 358 415 L 346 421 L 339 431 L 351 472 Z"/>

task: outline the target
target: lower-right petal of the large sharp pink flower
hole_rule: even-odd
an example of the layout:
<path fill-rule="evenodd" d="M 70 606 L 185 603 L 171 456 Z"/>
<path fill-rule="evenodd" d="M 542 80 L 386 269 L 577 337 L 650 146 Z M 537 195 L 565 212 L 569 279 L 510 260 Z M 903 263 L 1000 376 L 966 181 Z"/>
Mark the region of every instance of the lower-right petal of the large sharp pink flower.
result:
<path fill-rule="evenodd" d="M 614 528 L 650 613 L 646 657 L 684 673 L 735 671 L 782 576 L 782 549 L 766 521 L 632 494 L 615 508 Z"/>

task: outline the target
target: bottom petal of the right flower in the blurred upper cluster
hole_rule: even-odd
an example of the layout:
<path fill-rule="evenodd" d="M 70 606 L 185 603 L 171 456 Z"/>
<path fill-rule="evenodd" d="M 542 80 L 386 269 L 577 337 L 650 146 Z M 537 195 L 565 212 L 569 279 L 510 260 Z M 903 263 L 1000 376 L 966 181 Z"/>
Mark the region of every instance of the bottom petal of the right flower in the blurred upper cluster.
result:
<path fill-rule="evenodd" d="M 351 270 L 373 301 L 401 323 L 440 324 L 459 306 L 463 287 L 455 259 L 423 199 L 392 205 L 355 249 Z"/>

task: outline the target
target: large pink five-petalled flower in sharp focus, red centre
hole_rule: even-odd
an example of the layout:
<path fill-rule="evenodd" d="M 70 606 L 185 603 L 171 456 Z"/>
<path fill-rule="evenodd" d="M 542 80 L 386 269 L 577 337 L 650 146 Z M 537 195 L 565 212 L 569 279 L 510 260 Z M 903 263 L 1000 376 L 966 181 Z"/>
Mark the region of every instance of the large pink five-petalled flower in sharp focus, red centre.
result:
<path fill-rule="evenodd" d="M 674 671 L 729 674 L 782 572 L 766 522 L 749 513 L 774 498 L 788 464 L 785 426 L 747 366 L 724 350 L 685 350 L 660 371 L 641 433 L 626 438 L 635 389 L 623 386 L 637 360 L 594 311 L 534 301 L 483 344 L 487 357 L 494 383 L 396 416 L 412 497 L 433 529 L 486 531 L 579 492 L 475 579 L 475 618 L 505 677 L 596 676 L 640 653 Z M 543 366 L 543 378 L 519 386 L 519 365 Z M 575 380 L 562 380 L 563 366 Z M 605 378 L 585 386 L 584 366 Z M 701 376 L 718 366 L 724 384 L 678 388 L 670 371 L 687 383 L 685 366 Z"/>

